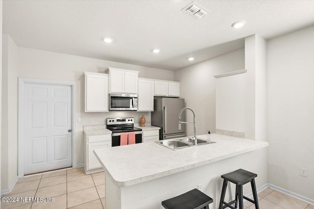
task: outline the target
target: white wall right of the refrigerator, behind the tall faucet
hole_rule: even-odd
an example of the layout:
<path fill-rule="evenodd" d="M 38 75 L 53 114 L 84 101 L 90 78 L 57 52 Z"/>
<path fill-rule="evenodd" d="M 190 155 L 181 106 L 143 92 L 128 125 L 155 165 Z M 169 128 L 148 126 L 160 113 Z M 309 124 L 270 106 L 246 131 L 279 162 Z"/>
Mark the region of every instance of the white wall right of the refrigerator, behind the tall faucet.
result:
<path fill-rule="evenodd" d="M 194 110 L 197 135 L 216 129 L 216 78 L 217 74 L 244 69 L 244 48 L 176 70 L 175 81 L 181 82 L 181 97 L 185 106 Z M 191 113 L 187 121 L 193 121 Z M 193 135 L 193 125 L 187 124 L 187 135 Z"/>

